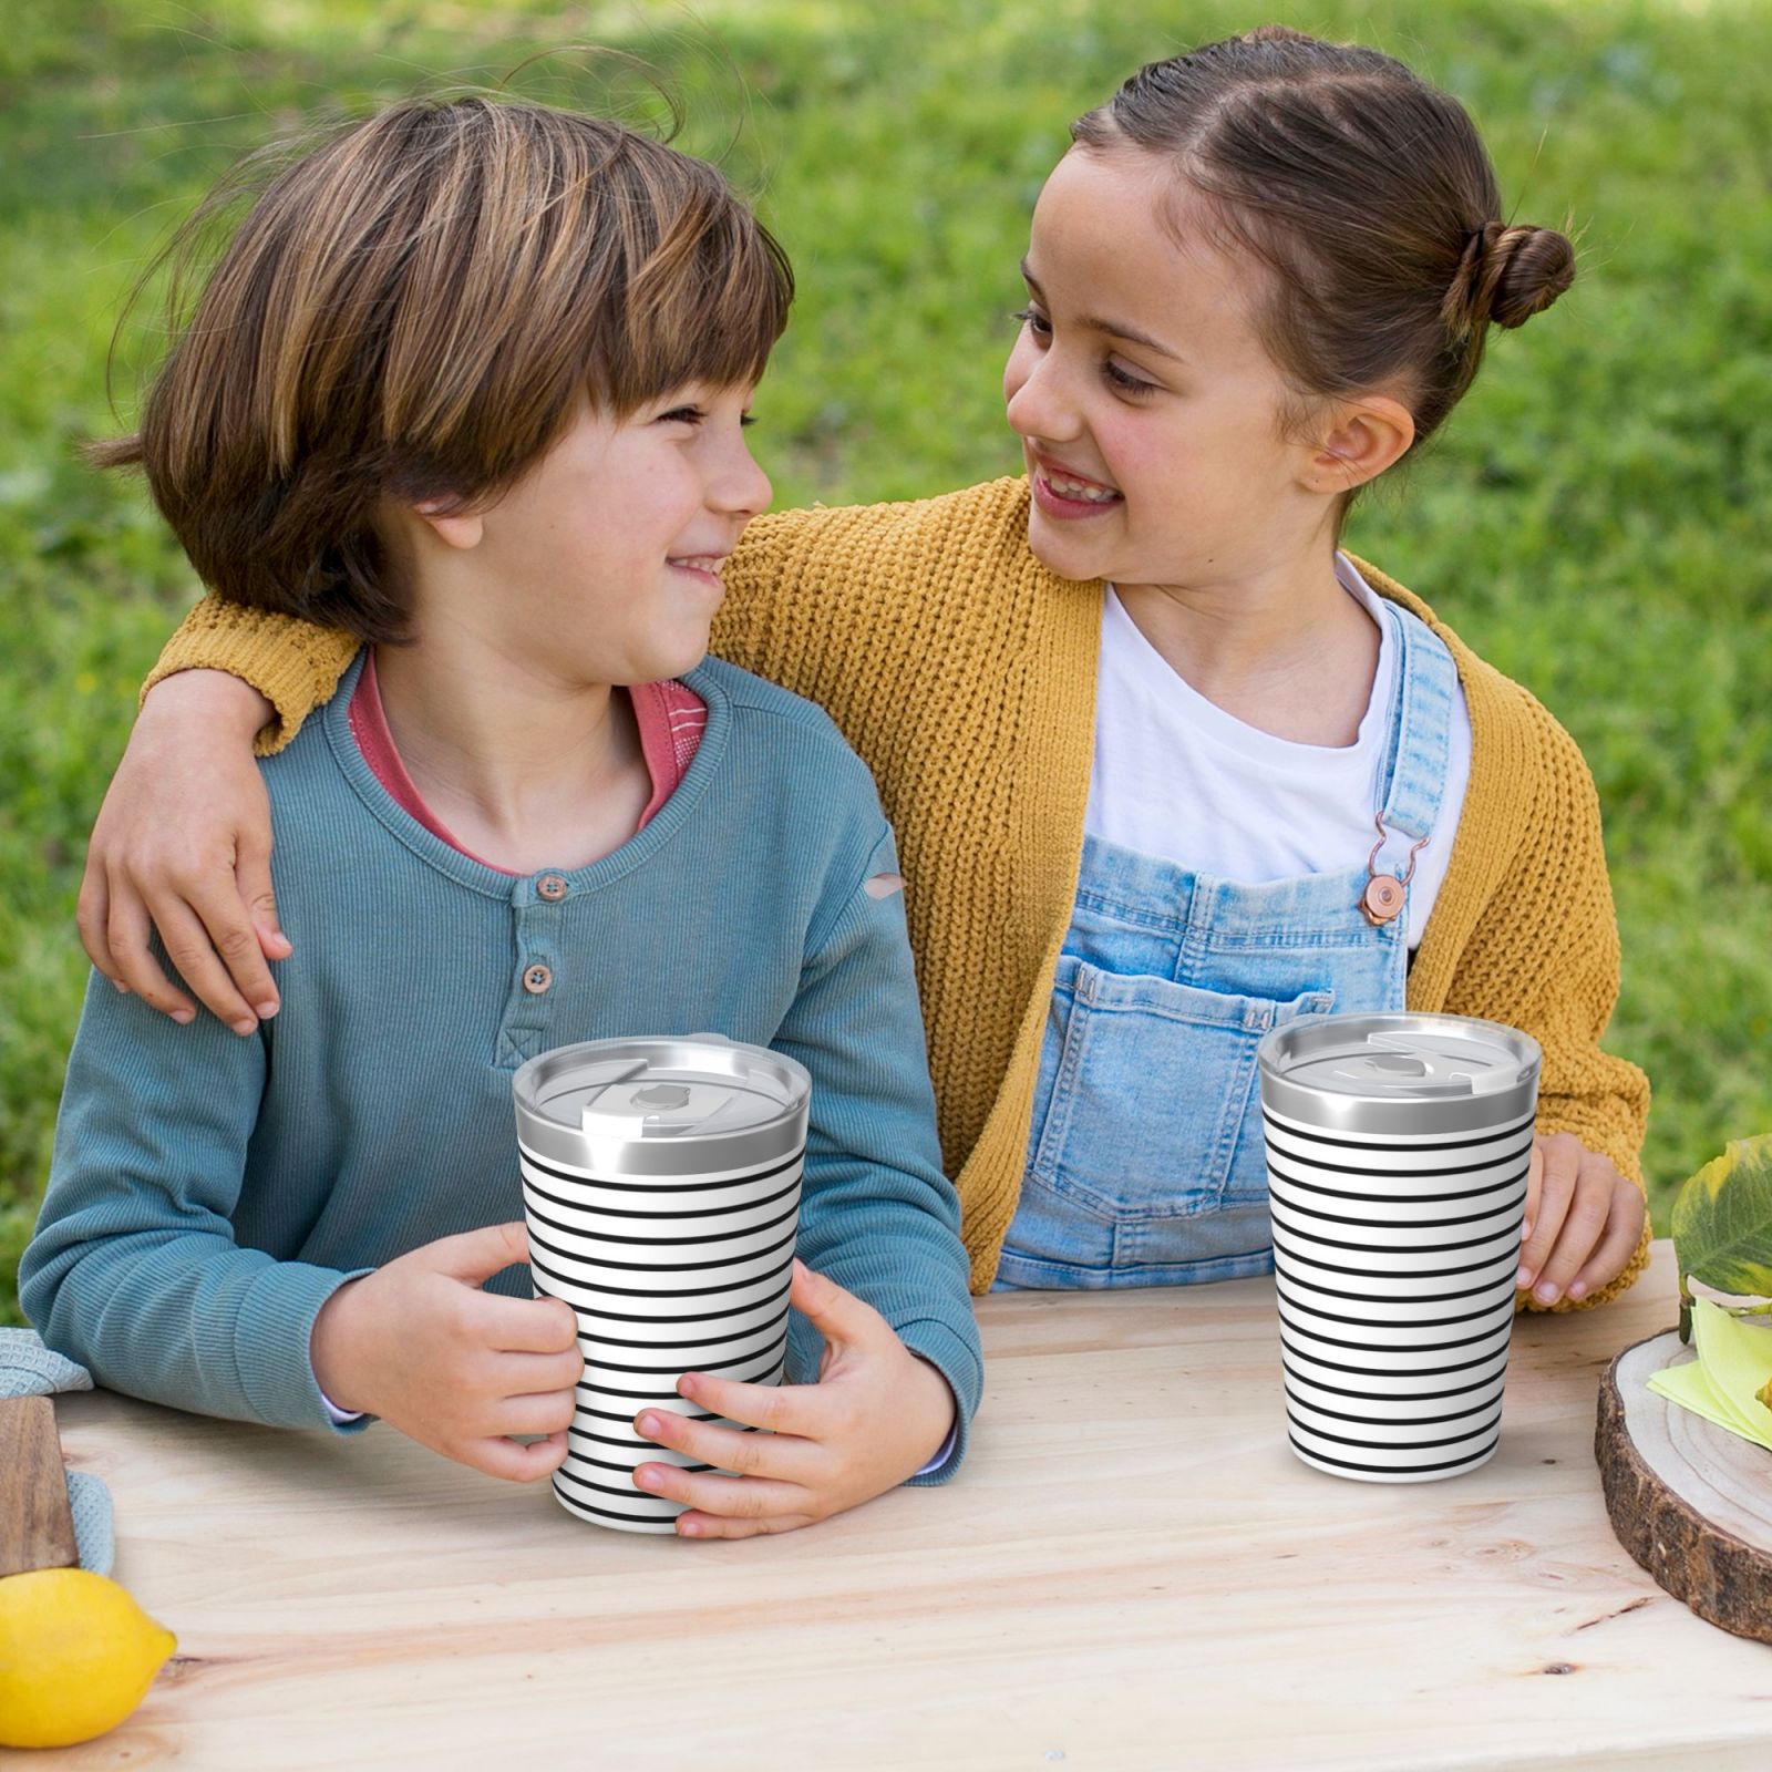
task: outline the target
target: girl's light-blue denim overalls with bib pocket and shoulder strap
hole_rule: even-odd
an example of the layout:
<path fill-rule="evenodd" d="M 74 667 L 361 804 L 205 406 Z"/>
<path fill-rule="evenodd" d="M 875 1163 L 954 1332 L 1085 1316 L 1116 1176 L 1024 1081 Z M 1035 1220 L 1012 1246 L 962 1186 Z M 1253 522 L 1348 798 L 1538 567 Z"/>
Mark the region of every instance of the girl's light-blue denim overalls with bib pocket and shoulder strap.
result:
<path fill-rule="evenodd" d="M 1384 613 L 1396 686 L 1373 867 L 1400 874 L 1439 817 L 1457 668 L 1421 620 Z M 1239 886 L 1084 838 L 999 1290 L 1272 1271 L 1255 1049 L 1294 1015 L 1403 1006 L 1407 905 L 1373 927 L 1366 881 Z"/>

